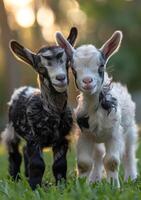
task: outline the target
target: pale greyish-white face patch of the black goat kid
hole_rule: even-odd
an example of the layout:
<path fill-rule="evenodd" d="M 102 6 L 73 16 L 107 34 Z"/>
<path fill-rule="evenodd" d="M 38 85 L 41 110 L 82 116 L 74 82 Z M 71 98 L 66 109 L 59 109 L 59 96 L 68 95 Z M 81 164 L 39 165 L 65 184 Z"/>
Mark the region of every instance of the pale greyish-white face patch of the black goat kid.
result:
<path fill-rule="evenodd" d="M 51 53 L 50 53 L 51 55 Z M 44 56 L 50 56 L 49 53 L 44 53 Z M 52 60 L 47 60 L 41 56 L 42 65 L 46 68 L 48 75 L 50 77 L 53 87 L 58 92 L 64 92 L 67 89 L 67 69 L 66 69 L 66 54 L 63 53 L 63 56 L 60 59 L 53 58 Z M 58 80 L 57 76 L 64 75 L 65 79 L 63 81 Z"/>

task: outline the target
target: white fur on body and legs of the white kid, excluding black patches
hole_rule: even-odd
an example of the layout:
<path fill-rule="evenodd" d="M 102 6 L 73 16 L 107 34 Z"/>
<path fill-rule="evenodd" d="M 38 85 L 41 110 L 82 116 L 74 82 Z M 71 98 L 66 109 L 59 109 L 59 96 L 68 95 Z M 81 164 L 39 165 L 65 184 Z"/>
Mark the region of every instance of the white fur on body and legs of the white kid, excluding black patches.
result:
<path fill-rule="evenodd" d="M 107 83 L 108 76 L 107 74 L 105 76 L 105 83 Z M 87 168 L 86 166 L 89 166 L 92 162 L 87 162 L 87 160 L 93 159 L 95 167 L 92 167 L 91 171 L 85 171 L 85 174 L 89 174 L 87 177 L 90 182 L 95 182 L 102 177 L 102 159 L 105 155 L 104 165 L 107 171 L 107 179 L 110 181 L 113 178 L 114 185 L 119 187 L 118 168 L 121 159 L 124 164 L 125 180 L 129 177 L 132 180 L 137 178 L 135 104 L 131 100 L 127 88 L 120 83 L 112 83 L 110 93 L 112 97 L 117 99 L 118 106 L 117 111 L 113 109 L 109 115 L 100 105 L 98 110 L 94 112 L 98 101 L 96 95 L 81 93 L 79 96 L 76 115 L 83 116 L 87 114 L 89 116 L 90 128 L 89 130 L 83 129 L 78 139 L 77 149 L 79 150 L 77 150 L 77 160 L 79 165 L 86 158 L 84 165 Z M 98 130 L 95 130 L 96 125 Z M 88 142 L 89 135 L 91 139 Z M 93 153 L 90 154 L 90 151 L 94 151 L 96 155 L 97 150 L 94 146 L 98 143 L 104 144 L 106 152 L 104 153 L 103 147 L 99 146 L 99 152 L 101 153 L 99 156 L 94 157 Z M 80 173 L 80 175 L 83 176 L 83 173 Z"/>

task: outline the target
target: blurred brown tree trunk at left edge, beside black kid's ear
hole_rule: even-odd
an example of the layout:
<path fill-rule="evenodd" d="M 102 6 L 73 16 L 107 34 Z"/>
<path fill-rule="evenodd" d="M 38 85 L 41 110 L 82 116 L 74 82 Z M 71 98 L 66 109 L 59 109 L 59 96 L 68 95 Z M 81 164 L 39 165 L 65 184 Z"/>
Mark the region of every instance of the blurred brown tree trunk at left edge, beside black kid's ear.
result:
<path fill-rule="evenodd" d="M 9 50 L 9 41 L 11 40 L 11 38 L 15 38 L 15 34 L 13 31 L 11 31 L 8 25 L 7 13 L 3 0 L 0 1 L 0 19 L 1 44 L 5 60 L 5 84 L 7 96 L 10 97 L 13 89 L 19 84 L 20 73 L 17 61 L 13 58 Z"/>

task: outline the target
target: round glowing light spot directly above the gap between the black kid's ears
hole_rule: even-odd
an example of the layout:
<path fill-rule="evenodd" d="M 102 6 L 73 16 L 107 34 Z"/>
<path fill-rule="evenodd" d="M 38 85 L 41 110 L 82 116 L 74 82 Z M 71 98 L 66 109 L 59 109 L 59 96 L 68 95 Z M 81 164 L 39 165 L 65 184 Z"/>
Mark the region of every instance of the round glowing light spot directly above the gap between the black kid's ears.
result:
<path fill-rule="evenodd" d="M 55 16 L 50 8 L 40 8 L 37 12 L 37 22 L 42 27 L 51 27 L 54 24 Z"/>

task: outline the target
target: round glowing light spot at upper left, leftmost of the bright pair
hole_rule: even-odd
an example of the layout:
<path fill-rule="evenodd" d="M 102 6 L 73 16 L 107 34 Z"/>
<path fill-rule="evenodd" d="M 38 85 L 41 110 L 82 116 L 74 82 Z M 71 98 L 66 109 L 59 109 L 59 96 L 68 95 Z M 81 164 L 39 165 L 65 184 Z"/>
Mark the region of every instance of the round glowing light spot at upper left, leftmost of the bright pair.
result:
<path fill-rule="evenodd" d="M 17 10 L 15 17 L 17 23 L 24 28 L 32 26 L 35 22 L 35 15 L 31 7 L 24 7 Z"/>

